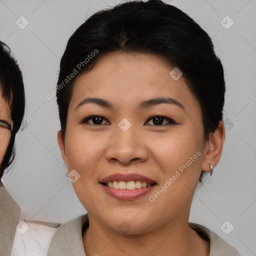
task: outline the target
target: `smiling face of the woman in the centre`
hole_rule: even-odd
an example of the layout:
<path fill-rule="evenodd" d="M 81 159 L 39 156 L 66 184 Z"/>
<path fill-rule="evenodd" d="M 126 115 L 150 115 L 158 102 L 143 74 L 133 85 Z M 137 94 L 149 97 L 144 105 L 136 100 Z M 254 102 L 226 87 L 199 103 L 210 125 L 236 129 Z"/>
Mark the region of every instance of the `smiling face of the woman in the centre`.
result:
<path fill-rule="evenodd" d="M 155 55 L 115 52 L 75 81 L 58 142 L 79 200 L 113 230 L 186 219 L 201 170 L 216 164 L 199 103 L 172 69 Z"/>

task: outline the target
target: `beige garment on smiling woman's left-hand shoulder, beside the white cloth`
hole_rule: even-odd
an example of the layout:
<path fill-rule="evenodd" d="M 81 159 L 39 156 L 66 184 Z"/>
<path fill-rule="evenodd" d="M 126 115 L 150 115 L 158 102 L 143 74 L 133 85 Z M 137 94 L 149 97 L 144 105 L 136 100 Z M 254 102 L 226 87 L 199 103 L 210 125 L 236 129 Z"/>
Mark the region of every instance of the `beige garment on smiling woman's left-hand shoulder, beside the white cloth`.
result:
<path fill-rule="evenodd" d="M 88 215 L 79 217 L 61 225 L 53 235 L 48 256 L 62 255 L 83 255 L 85 256 L 82 232 L 88 226 Z"/>

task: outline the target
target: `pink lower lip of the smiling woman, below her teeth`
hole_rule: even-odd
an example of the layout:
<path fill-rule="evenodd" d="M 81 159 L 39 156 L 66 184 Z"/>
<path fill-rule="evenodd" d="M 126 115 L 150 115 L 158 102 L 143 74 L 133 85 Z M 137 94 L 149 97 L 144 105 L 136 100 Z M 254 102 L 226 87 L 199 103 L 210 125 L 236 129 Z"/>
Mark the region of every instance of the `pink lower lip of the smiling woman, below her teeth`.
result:
<path fill-rule="evenodd" d="M 133 200 L 136 199 L 146 193 L 148 193 L 155 185 L 151 185 L 149 187 L 143 187 L 143 188 L 136 188 L 133 190 L 129 190 L 129 189 L 114 189 L 111 188 L 109 186 L 103 185 L 103 188 L 105 189 L 105 191 L 117 198 L 117 199 L 121 199 L 121 200 Z"/>

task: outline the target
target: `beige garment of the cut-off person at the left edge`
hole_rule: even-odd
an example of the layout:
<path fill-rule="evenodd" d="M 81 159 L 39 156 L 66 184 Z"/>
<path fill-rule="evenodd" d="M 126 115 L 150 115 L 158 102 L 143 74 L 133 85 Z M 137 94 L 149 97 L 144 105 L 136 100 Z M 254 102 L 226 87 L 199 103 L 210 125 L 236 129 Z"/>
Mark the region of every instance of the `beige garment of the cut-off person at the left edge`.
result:
<path fill-rule="evenodd" d="M 0 256 L 11 254 L 20 207 L 0 181 Z"/>

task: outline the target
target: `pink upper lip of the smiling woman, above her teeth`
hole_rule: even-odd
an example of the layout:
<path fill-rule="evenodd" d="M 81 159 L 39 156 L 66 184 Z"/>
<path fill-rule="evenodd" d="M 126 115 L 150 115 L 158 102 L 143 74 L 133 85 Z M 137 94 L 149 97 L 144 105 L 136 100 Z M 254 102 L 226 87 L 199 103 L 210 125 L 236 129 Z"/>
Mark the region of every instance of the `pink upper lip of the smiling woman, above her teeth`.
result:
<path fill-rule="evenodd" d="M 130 181 L 130 180 L 140 180 L 140 181 L 144 181 L 146 183 L 156 183 L 155 180 L 152 180 L 144 175 L 140 175 L 140 174 L 137 174 L 137 173 L 126 173 L 126 174 L 123 174 L 123 173 L 114 173 L 114 174 L 111 174 L 111 175 L 108 175 L 106 177 L 104 177 L 103 179 L 100 180 L 100 183 L 107 183 L 107 182 L 112 182 L 112 181 Z"/>

